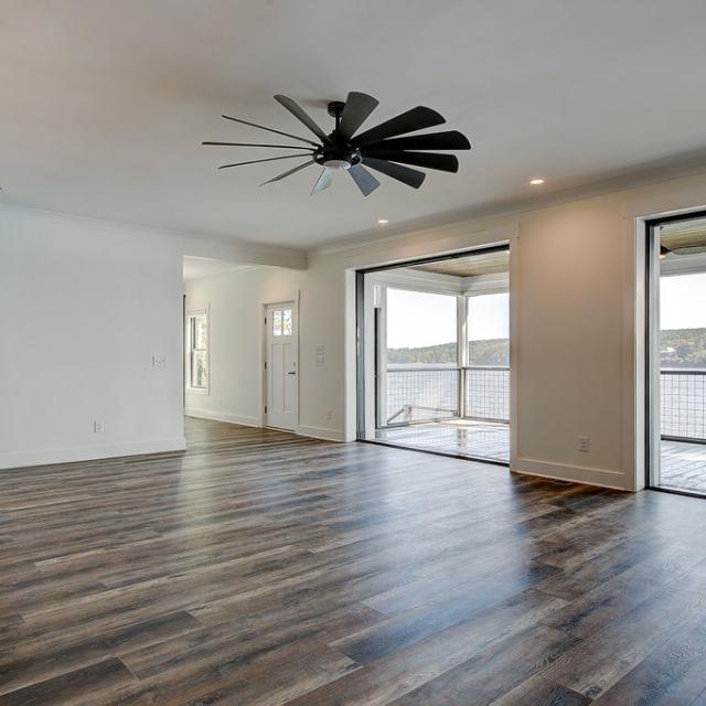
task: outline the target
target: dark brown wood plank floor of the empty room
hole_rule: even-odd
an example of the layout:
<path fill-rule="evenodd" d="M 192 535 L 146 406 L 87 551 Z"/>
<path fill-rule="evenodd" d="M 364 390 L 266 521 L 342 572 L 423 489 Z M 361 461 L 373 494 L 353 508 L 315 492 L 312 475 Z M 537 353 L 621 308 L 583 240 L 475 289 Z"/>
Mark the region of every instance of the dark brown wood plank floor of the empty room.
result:
<path fill-rule="evenodd" d="M 0 704 L 706 704 L 706 500 L 188 438 L 0 472 Z"/>

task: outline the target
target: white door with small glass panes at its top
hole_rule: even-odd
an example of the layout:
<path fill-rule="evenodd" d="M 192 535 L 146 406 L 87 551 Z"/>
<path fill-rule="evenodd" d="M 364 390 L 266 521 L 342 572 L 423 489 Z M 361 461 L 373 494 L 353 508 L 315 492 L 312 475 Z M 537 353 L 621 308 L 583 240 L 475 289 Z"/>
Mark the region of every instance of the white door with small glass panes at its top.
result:
<path fill-rule="evenodd" d="M 299 322 L 293 301 L 268 304 L 267 426 L 295 430 L 299 425 Z"/>

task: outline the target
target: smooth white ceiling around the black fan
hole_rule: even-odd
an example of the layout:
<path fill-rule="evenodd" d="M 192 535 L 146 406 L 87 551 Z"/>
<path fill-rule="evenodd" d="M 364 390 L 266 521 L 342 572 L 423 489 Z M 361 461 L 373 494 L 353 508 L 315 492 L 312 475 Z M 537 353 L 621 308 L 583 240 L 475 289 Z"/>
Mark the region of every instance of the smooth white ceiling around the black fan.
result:
<path fill-rule="evenodd" d="M 0 202 L 310 247 L 570 189 L 706 147 L 705 28 L 704 0 L 4 0 Z M 222 113 L 306 135 L 276 93 L 328 127 L 350 89 L 368 126 L 438 109 L 459 174 L 312 197 L 315 167 L 258 189 L 296 160 L 200 146 L 268 136 Z"/>

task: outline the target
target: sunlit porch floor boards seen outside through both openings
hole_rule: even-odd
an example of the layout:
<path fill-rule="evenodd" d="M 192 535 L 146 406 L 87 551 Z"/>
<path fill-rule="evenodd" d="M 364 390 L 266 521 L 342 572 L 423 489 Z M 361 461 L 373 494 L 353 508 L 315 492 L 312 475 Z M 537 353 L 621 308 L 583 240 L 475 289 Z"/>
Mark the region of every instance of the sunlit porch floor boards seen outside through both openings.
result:
<path fill-rule="evenodd" d="M 510 425 L 449 419 L 378 429 L 376 439 L 395 446 L 509 462 Z M 662 441 L 662 482 L 667 490 L 706 495 L 706 445 Z"/>

